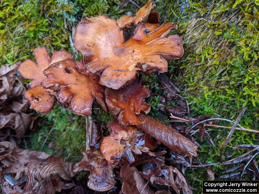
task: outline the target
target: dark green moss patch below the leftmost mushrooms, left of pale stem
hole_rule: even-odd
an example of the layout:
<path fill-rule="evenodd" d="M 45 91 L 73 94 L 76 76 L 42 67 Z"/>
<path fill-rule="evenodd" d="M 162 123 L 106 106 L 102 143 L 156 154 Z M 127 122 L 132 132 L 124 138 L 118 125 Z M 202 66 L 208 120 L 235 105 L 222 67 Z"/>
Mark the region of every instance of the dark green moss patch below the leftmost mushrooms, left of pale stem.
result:
<path fill-rule="evenodd" d="M 42 115 L 38 130 L 31 132 L 28 149 L 60 155 L 66 161 L 80 161 L 85 150 L 85 117 L 55 105 L 50 114 Z M 28 143 L 29 142 L 29 143 Z"/>

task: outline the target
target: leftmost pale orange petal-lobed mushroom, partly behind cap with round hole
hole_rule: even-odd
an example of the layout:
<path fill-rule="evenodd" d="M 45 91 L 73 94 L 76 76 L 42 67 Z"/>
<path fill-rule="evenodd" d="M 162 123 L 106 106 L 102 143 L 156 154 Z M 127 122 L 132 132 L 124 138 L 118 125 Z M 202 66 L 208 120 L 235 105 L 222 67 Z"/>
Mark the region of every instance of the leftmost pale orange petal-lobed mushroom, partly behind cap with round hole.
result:
<path fill-rule="evenodd" d="M 17 72 L 23 78 L 32 79 L 28 85 L 30 89 L 24 94 L 24 97 L 30 102 L 30 108 L 39 113 L 46 114 L 51 111 L 55 97 L 51 91 L 40 86 L 40 83 L 46 79 L 43 71 L 52 63 L 65 60 L 66 58 L 73 58 L 73 55 L 65 50 L 61 50 L 55 51 L 52 57 L 50 57 L 45 47 L 34 49 L 34 55 L 37 63 L 30 59 L 26 60 L 20 65 Z"/>

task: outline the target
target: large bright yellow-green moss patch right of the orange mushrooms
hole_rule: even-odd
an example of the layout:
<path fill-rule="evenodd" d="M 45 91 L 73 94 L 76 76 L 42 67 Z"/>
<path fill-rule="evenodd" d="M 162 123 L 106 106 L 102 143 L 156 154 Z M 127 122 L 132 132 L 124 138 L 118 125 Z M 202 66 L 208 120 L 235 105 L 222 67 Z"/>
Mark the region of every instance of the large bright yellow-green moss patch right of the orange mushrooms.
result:
<path fill-rule="evenodd" d="M 180 60 L 170 63 L 170 77 L 197 112 L 213 114 L 213 109 L 231 118 L 247 105 L 247 124 L 255 127 L 259 6 L 254 1 L 170 2 L 158 2 L 158 9 L 167 12 L 166 21 L 178 25 L 185 50 Z"/>

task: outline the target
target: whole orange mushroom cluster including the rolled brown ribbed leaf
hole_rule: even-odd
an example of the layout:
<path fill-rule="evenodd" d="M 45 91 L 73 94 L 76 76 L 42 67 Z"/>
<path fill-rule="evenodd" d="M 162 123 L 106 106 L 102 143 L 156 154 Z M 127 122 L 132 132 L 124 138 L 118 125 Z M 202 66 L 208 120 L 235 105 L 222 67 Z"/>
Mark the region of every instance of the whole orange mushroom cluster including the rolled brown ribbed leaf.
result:
<path fill-rule="evenodd" d="M 150 14 L 154 6 L 149 0 L 136 15 L 122 16 L 117 22 L 104 15 L 85 18 L 73 38 L 82 60 L 75 61 L 65 50 L 50 57 L 39 47 L 34 50 L 37 63 L 24 61 L 18 70 L 24 78 L 32 79 L 24 96 L 37 112 L 49 113 L 56 98 L 76 114 L 91 114 L 95 101 L 116 116 L 108 124 L 111 133 L 107 137 L 102 131 L 94 132 L 98 138 L 74 168 L 74 172 L 90 171 L 88 186 L 97 191 L 114 186 L 113 168 L 165 154 L 151 152 L 160 142 L 190 157 L 197 152 L 191 140 L 141 114 L 147 114 L 151 105 L 145 102 L 150 92 L 141 85 L 140 74 L 166 72 L 168 61 L 183 55 L 182 38 L 168 35 L 177 26 L 161 24 L 158 12 Z M 125 41 L 123 33 L 129 28 L 134 28 L 134 35 Z"/>

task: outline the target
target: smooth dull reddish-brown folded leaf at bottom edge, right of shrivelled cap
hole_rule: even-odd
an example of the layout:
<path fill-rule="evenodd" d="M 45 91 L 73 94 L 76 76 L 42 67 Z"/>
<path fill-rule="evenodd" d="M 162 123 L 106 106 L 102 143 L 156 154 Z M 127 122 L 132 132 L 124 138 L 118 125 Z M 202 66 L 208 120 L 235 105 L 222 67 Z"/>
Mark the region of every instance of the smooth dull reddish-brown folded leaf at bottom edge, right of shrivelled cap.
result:
<path fill-rule="evenodd" d="M 122 192 L 124 194 L 142 193 L 153 194 L 154 191 L 146 185 L 144 178 L 141 177 L 136 167 L 129 167 L 123 165 L 120 169 L 120 176 L 122 178 Z"/>

